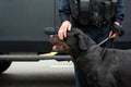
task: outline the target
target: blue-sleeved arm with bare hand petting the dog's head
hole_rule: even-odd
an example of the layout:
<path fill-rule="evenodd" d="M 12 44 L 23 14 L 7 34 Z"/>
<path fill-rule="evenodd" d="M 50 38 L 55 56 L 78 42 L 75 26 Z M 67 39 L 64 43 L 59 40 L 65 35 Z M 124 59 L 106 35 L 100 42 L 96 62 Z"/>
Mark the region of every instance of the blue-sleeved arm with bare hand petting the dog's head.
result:
<path fill-rule="evenodd" d="M 69 0 L 60 0 L 59 15 L 61 18 L 61 26 L 58 32 L 58 37 L 62 40 L 67 37 L 67 32 L 71 30 L 71 22 L 70 22 L 70 4 Z"/>

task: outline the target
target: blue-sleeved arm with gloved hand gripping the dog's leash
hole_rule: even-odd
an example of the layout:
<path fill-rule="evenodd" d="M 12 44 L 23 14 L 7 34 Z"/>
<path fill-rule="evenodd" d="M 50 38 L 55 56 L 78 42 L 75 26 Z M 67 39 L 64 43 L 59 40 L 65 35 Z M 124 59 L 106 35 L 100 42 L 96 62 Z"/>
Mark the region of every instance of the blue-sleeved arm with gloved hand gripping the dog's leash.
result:
<path fill-rule="evenodd" d="M 117 36 L 122 36 L 121 23 L 124 18 L 124 0 L 118 0 L 117 10 L 114 16 L 114 23 L 111 25 L 111 30 L 109 36 L 116 38 Z"/>

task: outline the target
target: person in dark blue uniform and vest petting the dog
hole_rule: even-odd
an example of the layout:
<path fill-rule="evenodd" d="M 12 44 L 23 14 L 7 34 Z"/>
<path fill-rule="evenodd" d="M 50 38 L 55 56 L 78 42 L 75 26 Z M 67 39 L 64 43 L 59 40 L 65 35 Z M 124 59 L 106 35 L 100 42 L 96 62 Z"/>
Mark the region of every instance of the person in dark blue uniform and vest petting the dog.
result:
<path fill-rule="evenodd" d="M 72 1 L 74 1 L 74 3 L 76 4 L 80 4 L 80 3 L 83 4 L 84 2 L 82 1 L 88 1 L 87 3 L 90 3 L 90 1 L 94 1 L 95 5 L 97 4 L 96 2 L 97 0 L 72 0 Z M 103 1 L 103 0 L 98 0 L 98 1 Z M 79 15 L 76 16 L 79 18 L 76 18 L 72 14 L 76 12 L 72 12 L 71 10 L 72 5 L 70 3 L 70 0 L 60 0 L 59 15 L 61 18 L 61 26 L 58 30 L 59 38 L 62 40 L 63 38 L 67 37 L 68 30 L 71 30 L 72 27 L 78 27 L 82 29 L 84 33 L 88 34 L 92 37 L 92 39 L 94 39 L 97 44 L 99 44 L 106 37 L 110 36 L 112 39 L 109 39 L 108 41 L 103 44 L 102 47 L 112 48 L 114 38 L 116 38 L 121 34 L 121 24 L 124 17 L 124 0 L 104 0 L 104 1 L 107 1 L 107 2 L 104 2 L 104 4 L 109 4 L 109 5 L 112 5 L 112 2 L 109 3 L 108 1 L 117 1 L 116 9 L 114 10 L 115 11 L 114 15 L 108 15 L 109 14 L 108 12 L 111 12 L 110 10 L 112 9 L 108 8 L 107 10 L 103 11 L 103 8 L 98 7 L 102 12 L 92 13 L 93 11 L 98 11 L 97 7 L 95 10 L 94 8 L 92 10 L 91 7 L 88 9 L 88 7 L 84 5 L 85 8 L 87 8 L 87 10 L 92 10 L 91 13 L 87 13 L 87 15 L 84 15 L 84 16 Z M 79 7 L 80 10 L 82 10 L 82 8 L 83 5 Z M 82 12 L 82 11 L 79 11 L 79 12 Z M 85 13 L 86 12 L 88 11 L 85 11 Z M 105 13 L 105 14 L 102 14 L 102 13 Z M 95 15 L 99 14 L 99 15 L 95 16 L 94 14 Z M 109 16 L 108 20 L 105 17 L 105 15 Z M 87 22 L 82 21 L 81 20 L 82 17 L 80 16 L 85 17 Z M 91 18 L 91 17 L 94 17 L 94 18 Z M 100 17 L 100 20 L 98 17 Z M 86 87 L 84 77 L 78 67 L 76 61 L 73 61 L 73 63 L 74 63 L 74 70 L 75 70 L 75 87 Z"/>

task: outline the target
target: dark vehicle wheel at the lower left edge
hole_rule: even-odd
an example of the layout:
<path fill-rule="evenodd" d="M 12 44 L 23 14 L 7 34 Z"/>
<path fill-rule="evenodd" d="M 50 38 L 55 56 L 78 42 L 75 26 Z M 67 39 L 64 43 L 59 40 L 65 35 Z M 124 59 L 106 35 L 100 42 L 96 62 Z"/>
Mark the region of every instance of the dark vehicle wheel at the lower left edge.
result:
<path fill-rule="evenodd" d="M 11 61 L 0 61 L 0 74 L 9 69 Z"/>

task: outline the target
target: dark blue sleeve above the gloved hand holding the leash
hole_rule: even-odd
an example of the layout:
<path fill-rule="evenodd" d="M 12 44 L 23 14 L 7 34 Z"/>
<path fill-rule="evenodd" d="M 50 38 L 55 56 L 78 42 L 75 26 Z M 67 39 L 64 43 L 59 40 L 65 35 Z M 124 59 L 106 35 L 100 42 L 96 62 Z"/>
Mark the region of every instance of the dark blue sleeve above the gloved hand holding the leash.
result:
<path fill-rule="evenodd" d="M 118 0 L 118 7 L 115 14 L 115 22 L 121 23 L 124 17 L 124 0 Z"/>

